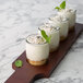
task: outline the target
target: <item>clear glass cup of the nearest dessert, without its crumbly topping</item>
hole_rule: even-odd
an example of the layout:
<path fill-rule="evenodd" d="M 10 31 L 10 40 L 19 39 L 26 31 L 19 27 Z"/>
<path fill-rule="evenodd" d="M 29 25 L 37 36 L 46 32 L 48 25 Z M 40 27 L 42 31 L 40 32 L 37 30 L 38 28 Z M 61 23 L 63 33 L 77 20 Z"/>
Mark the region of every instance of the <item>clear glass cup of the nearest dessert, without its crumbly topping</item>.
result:
<path fill-rule="evenodd" d="M 37 35 L 32 34 L 29 36 Z M 48 57 L 49 57 L 49 44 L 32 44 L 26 38 L 26 58 L 27 61 L 33 66 L 43 66 L 46 63 Z"/>

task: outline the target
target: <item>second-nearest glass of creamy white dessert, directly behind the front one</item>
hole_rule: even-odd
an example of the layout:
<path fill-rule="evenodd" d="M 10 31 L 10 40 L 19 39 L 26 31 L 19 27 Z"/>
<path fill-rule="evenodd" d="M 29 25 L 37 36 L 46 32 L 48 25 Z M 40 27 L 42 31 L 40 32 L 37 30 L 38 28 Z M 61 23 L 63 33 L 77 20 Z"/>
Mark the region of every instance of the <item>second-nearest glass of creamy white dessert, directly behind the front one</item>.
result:
<path fill-rule="evenodd" d="M 59 27 L 55 28 L 49 25 L 47 26 L 42 25 L 38 29 L 39 29 L 38 31 L 39 34 L 40 34 L 40 31 L 44 29 L 48 36 L 51 36 L 50 44 L 49 44 L 49 51 L 52 52 L 57 50 L 57 48 L 59 47 L 59 42 L 60 42 Z"/>

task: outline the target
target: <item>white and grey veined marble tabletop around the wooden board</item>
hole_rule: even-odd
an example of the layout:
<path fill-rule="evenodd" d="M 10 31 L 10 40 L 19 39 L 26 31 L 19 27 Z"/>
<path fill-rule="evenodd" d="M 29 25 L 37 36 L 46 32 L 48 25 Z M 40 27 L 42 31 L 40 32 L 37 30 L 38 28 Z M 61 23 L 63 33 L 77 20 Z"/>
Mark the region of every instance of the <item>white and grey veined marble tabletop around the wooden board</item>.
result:
<path fill-rule="evenodd" d="M 12 62 L 25 50 L 25 38 L 52 14 L 62 0 L 0 0 L 0 83 L 14 72 Z M 83 23 L 83 0 L 68 0 Z M 35 83 L 83 83 L 83 34 L 49 79 Z"/>

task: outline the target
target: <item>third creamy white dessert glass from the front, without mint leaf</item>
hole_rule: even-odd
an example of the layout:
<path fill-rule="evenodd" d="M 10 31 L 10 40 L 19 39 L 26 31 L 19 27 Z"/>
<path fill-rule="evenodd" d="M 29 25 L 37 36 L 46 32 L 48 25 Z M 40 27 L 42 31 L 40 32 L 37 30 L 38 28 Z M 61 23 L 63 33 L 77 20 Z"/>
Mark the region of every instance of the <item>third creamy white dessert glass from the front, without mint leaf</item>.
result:
<path fill-rule="evenodd" d="M 60 27 L 60 40 L 64 40 L 68 37 L 69 21 L 67 17 L 55 15 L 54 17 L 50 17 L 46 24 L 52 25 L 55 27 Z"/>

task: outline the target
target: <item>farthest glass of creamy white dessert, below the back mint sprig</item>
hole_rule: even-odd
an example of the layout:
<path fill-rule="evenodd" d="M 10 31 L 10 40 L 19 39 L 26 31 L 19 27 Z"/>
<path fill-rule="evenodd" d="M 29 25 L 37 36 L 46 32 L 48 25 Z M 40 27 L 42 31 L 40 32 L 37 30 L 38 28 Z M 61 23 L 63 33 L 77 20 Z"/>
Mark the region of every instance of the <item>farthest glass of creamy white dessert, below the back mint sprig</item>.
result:
<path fill-rule="evenodd" d="M 73 9 L 63 9 L 58 12 L 59 15 L 66 16 L 69 19 L 69 27 L 70 31 L 73 29 L 75 25 L 75 16 L 76 16 L 76 10 Z"/>

